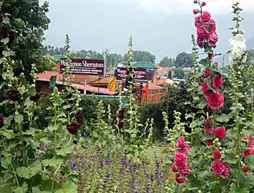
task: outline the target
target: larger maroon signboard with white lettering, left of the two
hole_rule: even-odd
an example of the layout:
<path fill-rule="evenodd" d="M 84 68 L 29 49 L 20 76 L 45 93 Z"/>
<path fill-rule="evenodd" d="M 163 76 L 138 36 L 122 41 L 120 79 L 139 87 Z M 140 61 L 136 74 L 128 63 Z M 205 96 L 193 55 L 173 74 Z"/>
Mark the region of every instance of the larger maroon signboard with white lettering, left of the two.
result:
<path fill-rule="evenodd" d="M 66 68 L 65 59 L 60 60 L 60 71 Z M 71 59 L 71 74 L 104 75 L 104 60 Z"/>

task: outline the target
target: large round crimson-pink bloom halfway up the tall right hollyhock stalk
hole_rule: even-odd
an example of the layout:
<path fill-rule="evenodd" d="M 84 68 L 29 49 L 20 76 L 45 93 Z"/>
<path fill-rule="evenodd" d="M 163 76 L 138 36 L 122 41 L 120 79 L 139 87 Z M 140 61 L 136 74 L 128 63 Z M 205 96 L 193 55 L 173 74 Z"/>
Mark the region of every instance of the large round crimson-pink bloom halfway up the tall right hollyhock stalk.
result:
<path fill-rule="evenodd" d="M 203 90 L 203 87 L 202 87 Z M 220 109 L 224 105 L 224 96 L 221 93 L 215 93 L 215 92 L 206 92 L 204 93 L 206 96 L 207 104 L 208 106 L 215 110 Z"/>

